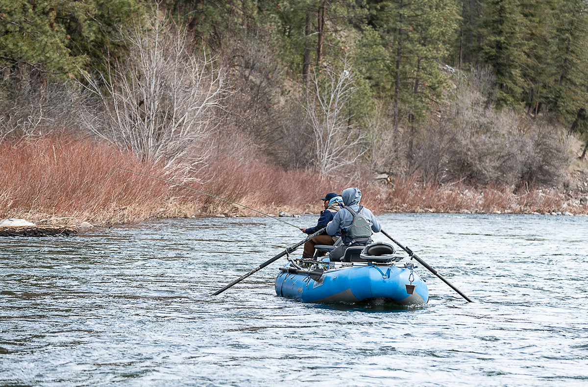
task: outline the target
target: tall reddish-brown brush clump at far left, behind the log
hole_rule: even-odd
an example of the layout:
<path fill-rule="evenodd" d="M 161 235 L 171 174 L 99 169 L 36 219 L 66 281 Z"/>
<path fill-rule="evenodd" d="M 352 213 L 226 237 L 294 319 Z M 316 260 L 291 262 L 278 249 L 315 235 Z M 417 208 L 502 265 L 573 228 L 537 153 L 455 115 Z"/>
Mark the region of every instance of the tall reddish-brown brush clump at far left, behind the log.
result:
<path fill-rule="evenodd" d="M 161 171 L 103 142 L 26 139 L 3 143 L 0 155 L 0 218 L 132 222 L 159 208 L 165 197 L 165 186 L 153 179 L 112 174 L 116 168 Z"/>

